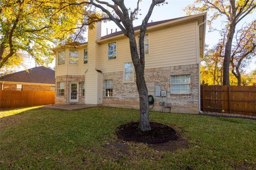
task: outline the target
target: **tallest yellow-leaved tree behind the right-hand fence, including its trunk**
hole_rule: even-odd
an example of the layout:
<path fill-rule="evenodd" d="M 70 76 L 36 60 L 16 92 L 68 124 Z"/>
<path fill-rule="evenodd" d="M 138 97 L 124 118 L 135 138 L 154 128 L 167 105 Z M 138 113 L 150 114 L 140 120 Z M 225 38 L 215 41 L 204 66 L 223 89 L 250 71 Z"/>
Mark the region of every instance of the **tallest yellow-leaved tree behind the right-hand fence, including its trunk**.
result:
<path fill-rule="evenodd" d="M 231 47 L 233 38 L 236 32 L 236 25 L 245 18 L 246 15 L 251 14 L 256 7 L 255 0 L 196 0 L 194 4 L 188 5 L 185 11 L 188 14 L 202 13 L 209 10 L 213 11 L 208 21 L 210 29 L 212 29 L 212 22 L 219 18 L 219 16 L 226 16 L 225 28 L 227 29 L 225 41 L 225 54 L 223 60 L 223 85 L 229 85 L 229 65 L 231 57 Z M 212 29 L 213 30 L 213 29 Z"/>

